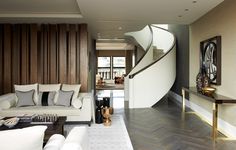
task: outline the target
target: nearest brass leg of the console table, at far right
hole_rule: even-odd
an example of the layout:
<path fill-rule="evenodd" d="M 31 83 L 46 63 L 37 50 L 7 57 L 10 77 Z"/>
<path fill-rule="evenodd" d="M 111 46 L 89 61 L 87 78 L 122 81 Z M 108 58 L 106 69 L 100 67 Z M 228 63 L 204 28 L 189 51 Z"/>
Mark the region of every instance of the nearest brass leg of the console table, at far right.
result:
<path fill-rule="evenodd" d="M 212 107 L 212 115 L 213 115 L 213 120 L 212 120 L 212 139 L 216 140 L 217 138 L 217 118 L 218 118 L 218 104 L 213 103 Z"/>

